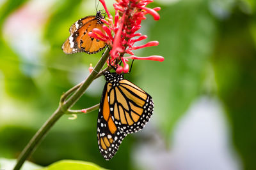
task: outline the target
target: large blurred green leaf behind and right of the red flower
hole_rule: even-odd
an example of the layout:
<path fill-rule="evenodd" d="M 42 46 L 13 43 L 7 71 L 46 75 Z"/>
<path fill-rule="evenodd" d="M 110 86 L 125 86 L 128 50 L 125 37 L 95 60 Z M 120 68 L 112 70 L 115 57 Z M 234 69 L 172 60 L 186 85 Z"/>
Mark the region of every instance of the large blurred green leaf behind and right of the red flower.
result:
<path fill-rule="evenodd" d="M 153 118 L 168 139 L 173 125 L 201 92 L 216 25 L 207 1 L 180 1 L 159 14 L 160 20 L 148 25 L 148 41 L 157 40 L 159 46 L 147 48 L 141 55 L 162 55 L 164 62 L 136 63 L 144 64 L 138 85 L 152 95 Z"/>

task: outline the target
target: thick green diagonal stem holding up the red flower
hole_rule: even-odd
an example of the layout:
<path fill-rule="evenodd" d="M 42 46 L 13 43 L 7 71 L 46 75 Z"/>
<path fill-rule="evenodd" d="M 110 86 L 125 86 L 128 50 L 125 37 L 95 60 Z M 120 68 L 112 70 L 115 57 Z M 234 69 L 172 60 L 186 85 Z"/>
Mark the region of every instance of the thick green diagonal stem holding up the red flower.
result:
<path fill-rule="evenodd" d="M 100 58 L 99 62 L 93 69 L 92 73 L 86 78 L 85 81 L 83 81 L 82 84 L 76 85 L 72 89 L 68 90 L 67 93 L 63 94 L 61 96 L 60 105 L 58 109 L 52 114 L 52 116 L 45 122 L 44 125 L 36 132 L 36 134 L 33 136 L 33 138 L 29 141 L 28 145 L 24 148 L 24 150 L 20 153 L 17 164 L 13 168 L 13 170 L 19 170 L 20 167 L 24 164 L 25 160 L 28 159 L 28 157 L 35 151 L 36 146 L 42 141 L 44 136 L 49 132 L 51 127 L 63 116 L 69 108 L 71 108 L 76 101 L 84 94 L 85 90 L 89 87 L 89 85 L 92 83 L 92 81 L 97 78 L 97 74 L 99 73 L 100 69 L 102 69 L 102 66 L 104 66 L 104 63 L 108 59 L 109 50 L 108 48 Z M 78 89 L 77 89 L 78 87 Z M 74 92 L 76 90 L 76 92 Z M 74 92 L 74 94 L 72 94 Z M 70 96 L 72 94 L 72 96 Z M 69 99 L 65 101 L 65 99 L 68 97 Z"/>

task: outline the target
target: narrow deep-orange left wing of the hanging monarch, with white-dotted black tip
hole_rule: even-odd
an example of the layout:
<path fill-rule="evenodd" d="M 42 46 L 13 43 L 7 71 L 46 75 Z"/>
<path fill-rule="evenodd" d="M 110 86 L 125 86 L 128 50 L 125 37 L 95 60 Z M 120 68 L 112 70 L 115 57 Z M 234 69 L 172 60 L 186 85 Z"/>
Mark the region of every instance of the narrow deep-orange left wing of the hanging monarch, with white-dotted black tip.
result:
<path fill-rule="evenodd" d="M 119 131 L 111 118 L 106 88 L 107 86 L 108 83 L 106 83 L 104 87 L 100 101 L 97 122 L 97 137 L 100 153 L 104 159 L 109 160 L 115 155 L 119 145 L 122 143 L 122 140 L 127 134 Z"/>

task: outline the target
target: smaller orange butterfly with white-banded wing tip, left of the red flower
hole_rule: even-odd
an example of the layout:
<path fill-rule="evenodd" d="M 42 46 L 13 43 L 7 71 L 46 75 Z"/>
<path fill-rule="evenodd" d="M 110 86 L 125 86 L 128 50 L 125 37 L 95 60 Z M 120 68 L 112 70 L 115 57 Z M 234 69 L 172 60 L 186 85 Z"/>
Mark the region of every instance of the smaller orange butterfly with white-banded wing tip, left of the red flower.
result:
<path fill-rule="evenodd" d="M 69 29 L 70 36 L 61 46 L 63 52 L 67 54 L 77 52 L 92 54 L 103 50 L 106 46 L 104 41 L 88 36 L 88 32 L 94 28 L 105 32 L 102 29 L 102 18 L 104 17 L 101 15 L 101 11 L 97 11 L 96 15 L 81 18 L 71 25 Z"/>

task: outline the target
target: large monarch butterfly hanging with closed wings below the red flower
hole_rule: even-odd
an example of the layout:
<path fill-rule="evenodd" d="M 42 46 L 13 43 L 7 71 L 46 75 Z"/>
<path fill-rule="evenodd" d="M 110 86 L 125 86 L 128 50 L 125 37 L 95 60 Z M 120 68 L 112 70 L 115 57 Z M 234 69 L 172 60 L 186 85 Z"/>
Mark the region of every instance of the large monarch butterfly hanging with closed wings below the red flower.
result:
<path fill-rule="evenodd" d="M 106 84 L 100 101 L 97 138 L 104 159 L 111 159 L 127 134 L 140 131 L 150 119 L 154 103 L 123 74 L 104 73 Z"/>

